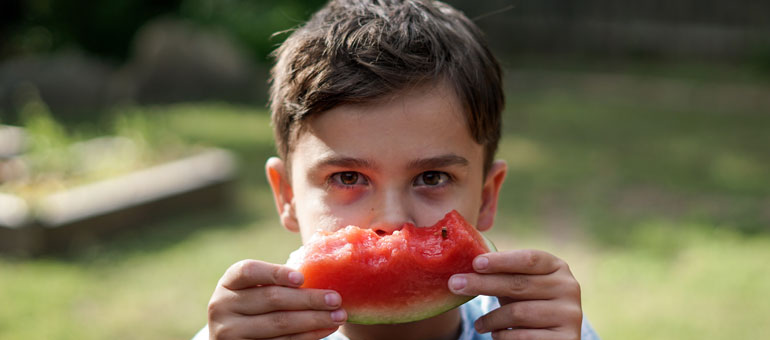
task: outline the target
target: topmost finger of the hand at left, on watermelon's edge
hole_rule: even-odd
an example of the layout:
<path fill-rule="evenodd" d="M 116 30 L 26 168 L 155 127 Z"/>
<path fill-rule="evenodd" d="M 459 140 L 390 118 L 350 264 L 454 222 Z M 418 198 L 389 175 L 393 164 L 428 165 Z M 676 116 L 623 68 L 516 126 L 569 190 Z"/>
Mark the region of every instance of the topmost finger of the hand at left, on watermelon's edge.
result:
<path fill-rule="evenodd" d="M 302 273 L 287 266 L 243 260 L 230 266 L 219 279 L 219 284 L 230 290 L 238 290 L 260 285 L 299 287 L 303 281 Z"/>

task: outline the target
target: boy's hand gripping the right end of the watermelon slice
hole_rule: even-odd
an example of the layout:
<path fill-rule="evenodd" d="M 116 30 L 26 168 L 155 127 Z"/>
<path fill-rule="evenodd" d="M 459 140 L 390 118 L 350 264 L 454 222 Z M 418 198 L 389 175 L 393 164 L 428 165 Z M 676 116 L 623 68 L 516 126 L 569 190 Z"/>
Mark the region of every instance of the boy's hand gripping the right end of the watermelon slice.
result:
<path fill-rule="evenodd" d="M 500 308 L 476 320 L 495 339 L 580 339 L 580 286 L 567 264 L 539 250 L 487 253 L 476 273 L 456 274 L 449 288 L 461 295 L 497 296 Z"/>

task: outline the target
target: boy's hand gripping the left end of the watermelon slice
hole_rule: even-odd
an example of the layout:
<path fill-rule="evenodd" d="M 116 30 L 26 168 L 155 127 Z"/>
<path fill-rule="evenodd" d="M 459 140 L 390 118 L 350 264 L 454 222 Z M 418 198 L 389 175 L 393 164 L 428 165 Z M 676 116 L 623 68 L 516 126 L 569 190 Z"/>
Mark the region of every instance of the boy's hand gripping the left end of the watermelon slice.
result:
<path fill-rule="evenodd" d="M 243 260 L 227 269 L 208 308 L 211 339 L 321 339 L 345 322 L 331 290 L 299 289 L 302 274 Z"/>

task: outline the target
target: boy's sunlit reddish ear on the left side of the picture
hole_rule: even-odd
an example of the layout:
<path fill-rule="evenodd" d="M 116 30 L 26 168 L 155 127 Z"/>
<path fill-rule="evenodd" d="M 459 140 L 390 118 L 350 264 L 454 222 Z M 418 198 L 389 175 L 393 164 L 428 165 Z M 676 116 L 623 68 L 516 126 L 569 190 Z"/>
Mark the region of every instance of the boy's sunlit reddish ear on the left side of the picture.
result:
<path fill-rule="evenodd" d="M 265 175 L 273 190 L 273 199 L 284 228 L 298 232 L 299 223 L 294 211 L 294 192 L 282 159 L 270 157 L 265 163 Z"/>

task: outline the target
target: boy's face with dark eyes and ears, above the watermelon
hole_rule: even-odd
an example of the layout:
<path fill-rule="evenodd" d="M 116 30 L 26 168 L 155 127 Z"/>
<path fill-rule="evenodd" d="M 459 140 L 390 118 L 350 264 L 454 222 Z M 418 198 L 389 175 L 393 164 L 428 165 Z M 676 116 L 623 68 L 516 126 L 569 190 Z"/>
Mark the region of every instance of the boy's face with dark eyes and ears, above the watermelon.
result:
<path fill-rule="evenodd" d="M 267 174 L 281 222 L 303 242 L 347 225 L 391 233 L 429 226 L 456 209 L 492 226 L 505 163 L 483 174 L 484 148 L 446 84 L 432 83 L 316 115 L 291 153 L 291 176 L 272 158 Z"/>

